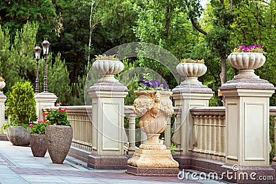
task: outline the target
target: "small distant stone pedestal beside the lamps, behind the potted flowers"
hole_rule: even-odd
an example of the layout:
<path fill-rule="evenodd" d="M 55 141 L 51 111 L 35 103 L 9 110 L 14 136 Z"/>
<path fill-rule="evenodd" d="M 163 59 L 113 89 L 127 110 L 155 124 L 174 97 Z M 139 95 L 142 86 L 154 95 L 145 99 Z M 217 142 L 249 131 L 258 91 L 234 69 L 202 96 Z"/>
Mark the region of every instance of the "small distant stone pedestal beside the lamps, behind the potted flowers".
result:
<path fill-rule="evenodd" d="M 43 119 L 43 108 L 55 106 L 57 101 L 57 96 L 50 92 L 41 92 L 39 94 L 34 94 L 34 100 L 36 102 L 37 117 L 38 119 Z"/>

